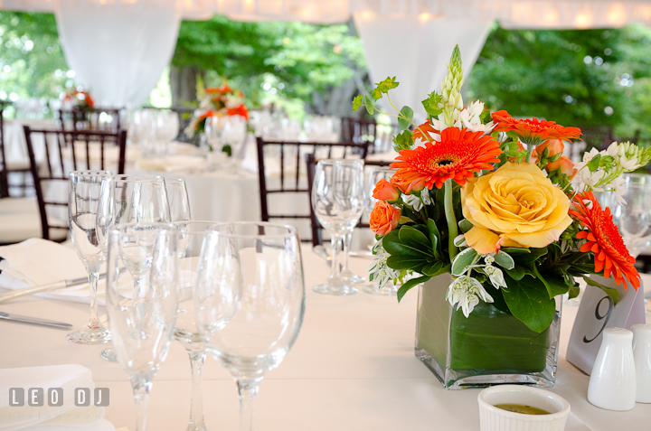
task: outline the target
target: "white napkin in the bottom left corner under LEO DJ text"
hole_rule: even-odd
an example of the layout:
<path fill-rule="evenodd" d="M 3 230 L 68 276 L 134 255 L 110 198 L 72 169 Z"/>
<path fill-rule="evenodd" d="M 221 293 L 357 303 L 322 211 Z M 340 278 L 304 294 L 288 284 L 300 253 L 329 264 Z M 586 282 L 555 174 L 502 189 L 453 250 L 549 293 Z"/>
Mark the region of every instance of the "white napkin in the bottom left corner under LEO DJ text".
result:
<path fill-rule="evenodd" d="M 31 407 L 25 402 L 23 407 L 10 407 L 10 388 L 23 388 L 25 398 L 28 389 L 42 388 L 45 398 L 43 406 Z M 63 389 L 61 407 L 48 405 L 50 388 Z M 76 388 L 90 389 L 90 407 L 75 406 Z M 72 428 L 78 431 L 113 431 L 115 426 L 103 419 L 104 408 L 92 404 L 94 389 L 90 370 L 77 364 L 0 370 L 0 406 L 3 406 L 0 408 L 0 430 L 61 431 Z"/>

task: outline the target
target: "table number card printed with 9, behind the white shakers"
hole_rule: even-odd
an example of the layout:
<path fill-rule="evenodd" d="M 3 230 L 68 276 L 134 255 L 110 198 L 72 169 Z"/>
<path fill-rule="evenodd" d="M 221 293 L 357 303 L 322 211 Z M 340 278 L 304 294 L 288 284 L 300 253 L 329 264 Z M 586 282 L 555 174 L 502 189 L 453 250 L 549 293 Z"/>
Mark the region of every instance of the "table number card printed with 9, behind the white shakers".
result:
<path fill-rule="evenodd" d="M 596 282 L 614 287 L 619 293 L 618 305 L 609 295 L 595 286 L 586 286 L 570 336 L 566 358 L 580 370 L 590 374 L 601 346 L 603 330 L 618 327 L 630 329 L 635 323 L 646 323 L 644 311 L 644 284 L 637 291 L 628 286 L 617 286 L 610 277 L 591 276 Z"/>

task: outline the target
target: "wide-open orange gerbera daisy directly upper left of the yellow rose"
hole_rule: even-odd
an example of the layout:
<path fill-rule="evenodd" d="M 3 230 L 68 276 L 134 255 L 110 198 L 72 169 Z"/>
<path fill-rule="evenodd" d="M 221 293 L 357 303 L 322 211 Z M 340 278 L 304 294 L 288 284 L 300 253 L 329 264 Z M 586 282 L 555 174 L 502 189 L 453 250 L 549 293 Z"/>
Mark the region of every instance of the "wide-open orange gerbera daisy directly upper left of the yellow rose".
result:
<path fill-rule="evenodd" d="M 467 129 L 448 127 L 441 132 L 440 142 L 426 142 L 424 147 L 401 150 L 391 167 L 398 168 L 392 183 L 424 183 L 431 189 L 441 188 L 449 178 L 460 185 L 474 172 L 493 169 L 502 154 L 499 143 L 491 136 Z"/>

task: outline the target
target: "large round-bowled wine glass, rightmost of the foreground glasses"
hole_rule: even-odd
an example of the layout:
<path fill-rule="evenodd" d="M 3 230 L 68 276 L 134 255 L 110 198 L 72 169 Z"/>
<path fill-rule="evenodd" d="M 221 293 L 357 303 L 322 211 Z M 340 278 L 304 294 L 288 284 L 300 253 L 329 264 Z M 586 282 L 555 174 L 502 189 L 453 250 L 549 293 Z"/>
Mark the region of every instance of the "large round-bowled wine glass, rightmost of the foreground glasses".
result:
<path fill-rule="evenodd" d="M 208 351 L 237 383 L 241 431 L 252 429 L 259 382 L 296 341 L 304 311 L 300 240 L 294 228 L 240 222 L 206 231 L 194 312 Z"/>

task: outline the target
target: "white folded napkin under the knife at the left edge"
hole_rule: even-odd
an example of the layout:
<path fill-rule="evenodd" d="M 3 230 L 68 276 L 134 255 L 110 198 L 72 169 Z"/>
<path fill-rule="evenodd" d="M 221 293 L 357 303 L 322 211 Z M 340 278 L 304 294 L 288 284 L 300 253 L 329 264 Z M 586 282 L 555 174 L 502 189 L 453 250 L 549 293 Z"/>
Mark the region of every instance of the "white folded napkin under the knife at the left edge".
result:
<path fill-rule="evenodd" d="M 18 244 L 0 247 L 0 257 L 4 258 L 0 261 L 0 287 L 5 289 L 23 289 L 88 276 L 74 249 L 46 239 L 26 239 Z M 36 295 L 90 303 L 88 283 Z M 104 305 L 105 285 L 102 280 L 99 280 L 98 295 L 99 305 Z"/>

